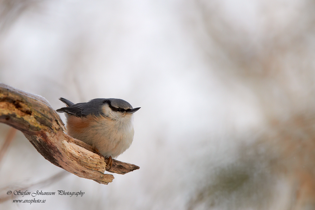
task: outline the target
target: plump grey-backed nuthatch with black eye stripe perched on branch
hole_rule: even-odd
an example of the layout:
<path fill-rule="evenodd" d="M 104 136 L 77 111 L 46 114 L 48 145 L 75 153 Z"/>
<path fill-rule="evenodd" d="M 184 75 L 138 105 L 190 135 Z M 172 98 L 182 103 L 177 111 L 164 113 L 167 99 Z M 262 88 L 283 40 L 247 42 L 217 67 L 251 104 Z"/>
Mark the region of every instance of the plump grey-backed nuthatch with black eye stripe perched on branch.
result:
<path fill-rule="evenodd" d="M 74 104 L 60 98 L 66 107 L 67 133 L 93 147 L 100 157 L 108 158 L 106 167 L 112 167 L 112 158 L 127 150 L 134 138 L 133 113 L 141 107 L 132 106 L 123 99 L 92 99 Z"/>

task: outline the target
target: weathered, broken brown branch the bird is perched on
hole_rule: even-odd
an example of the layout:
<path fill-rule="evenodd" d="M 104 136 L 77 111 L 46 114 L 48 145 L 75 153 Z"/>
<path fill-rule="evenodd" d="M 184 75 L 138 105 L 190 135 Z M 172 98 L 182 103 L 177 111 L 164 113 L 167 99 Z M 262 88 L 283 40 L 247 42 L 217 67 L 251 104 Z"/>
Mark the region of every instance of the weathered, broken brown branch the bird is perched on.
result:
<path fill-rule="evenodd" d="M 112 174 L 104 174 L 104 158 L 95 154 L 90 145 L 67 135 L 59 115 L 41 96 L 0 83 L 0 122 L 22 131 L 37 151 L 56 166 L 101 184 L 114 179 Z M 113 159 L 108 171 L 125 174 L 135 169 L 139 167 Z"/>

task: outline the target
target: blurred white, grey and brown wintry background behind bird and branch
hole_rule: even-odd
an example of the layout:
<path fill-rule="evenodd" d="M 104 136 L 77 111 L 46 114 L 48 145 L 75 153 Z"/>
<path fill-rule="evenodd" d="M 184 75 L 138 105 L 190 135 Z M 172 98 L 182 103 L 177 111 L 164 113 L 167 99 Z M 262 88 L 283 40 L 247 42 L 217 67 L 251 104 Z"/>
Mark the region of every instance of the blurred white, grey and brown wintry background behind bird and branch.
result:
<path fill-rule="evenodd" d="M 1 209 L 315 209 L 315 2 L 0 1 L 0 82 L 120 98 L 140 166 L 79 178 L 0 124 Z M 65 122 L 64 114 L 60 114 Z M 82 191 L 13 203 L 8 190 Z"/>

